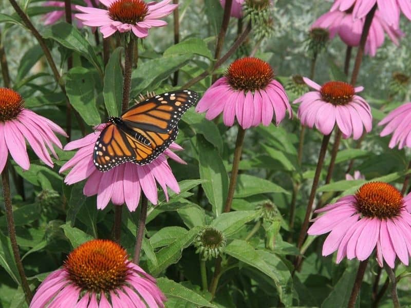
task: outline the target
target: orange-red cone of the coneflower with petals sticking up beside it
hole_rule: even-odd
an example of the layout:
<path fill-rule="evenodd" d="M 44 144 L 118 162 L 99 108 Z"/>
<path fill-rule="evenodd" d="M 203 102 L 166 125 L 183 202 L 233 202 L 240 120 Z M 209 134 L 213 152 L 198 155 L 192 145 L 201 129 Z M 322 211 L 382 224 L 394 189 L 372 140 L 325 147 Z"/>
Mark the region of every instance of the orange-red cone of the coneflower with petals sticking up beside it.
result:
<path fill-rule="evenodd" d="M 324 101 L 333 105 L 346 105 L 352 101 L 354 87 L 341 81 L 330 81 L 325 83 L 320 90 Z"/>

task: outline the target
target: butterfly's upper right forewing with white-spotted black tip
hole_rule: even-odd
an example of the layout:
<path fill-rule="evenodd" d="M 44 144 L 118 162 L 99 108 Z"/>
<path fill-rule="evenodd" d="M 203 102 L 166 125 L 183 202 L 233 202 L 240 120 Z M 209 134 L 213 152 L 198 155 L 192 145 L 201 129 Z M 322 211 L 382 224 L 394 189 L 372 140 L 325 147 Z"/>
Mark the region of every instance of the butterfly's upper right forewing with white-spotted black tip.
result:
<path fill-rule="evenodd" d="M 166 92 L 129 108 L 121 120 L 136 131 L 168 133 L 197 100 L 198 94 L 191 90 Z"/>

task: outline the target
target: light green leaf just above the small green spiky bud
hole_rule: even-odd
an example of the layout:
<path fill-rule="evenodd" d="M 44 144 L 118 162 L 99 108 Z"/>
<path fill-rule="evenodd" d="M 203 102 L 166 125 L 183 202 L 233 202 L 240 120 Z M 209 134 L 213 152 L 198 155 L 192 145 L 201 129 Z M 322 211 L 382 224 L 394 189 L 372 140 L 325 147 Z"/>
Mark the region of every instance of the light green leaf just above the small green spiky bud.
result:
<path fill-rule="evenodd" d="M 230 213 L 221 214 L 212 221 L 211 225 L 219 229 L 228 237 L 244 227 L 249 221 L 254 220 L 257 215 L 258 211 L 256 210 L 232 211 Z"/>

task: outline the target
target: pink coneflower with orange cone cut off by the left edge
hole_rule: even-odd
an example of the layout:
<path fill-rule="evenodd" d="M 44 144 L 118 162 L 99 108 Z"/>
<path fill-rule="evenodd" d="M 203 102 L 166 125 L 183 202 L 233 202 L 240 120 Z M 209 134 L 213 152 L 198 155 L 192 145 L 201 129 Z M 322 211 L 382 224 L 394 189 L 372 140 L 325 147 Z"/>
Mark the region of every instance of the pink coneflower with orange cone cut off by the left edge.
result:
<path fill-rule="evenodd" d="M 29 169 L 25 140 L 40 160 L 52 167 L 48 150 L 57 159 L 53 144 L 62 148 L 54 132 L 67 137 L 60 126 L 24 108 L 24 100 L 16 91 L 0 88 L 0 172 L 6 165 L 8 152 L 17 165 Z"/>

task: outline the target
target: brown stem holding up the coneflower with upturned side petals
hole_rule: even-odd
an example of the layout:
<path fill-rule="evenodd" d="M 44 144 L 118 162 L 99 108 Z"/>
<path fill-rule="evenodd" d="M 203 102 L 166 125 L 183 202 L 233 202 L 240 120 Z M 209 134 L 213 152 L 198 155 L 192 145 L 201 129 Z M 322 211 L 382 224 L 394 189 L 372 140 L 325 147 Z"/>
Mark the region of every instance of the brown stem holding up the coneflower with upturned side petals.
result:
<path fill-rule="evenodd" d="M 323 137 L 323 142 L 321 143 L 320 155 L 318 157 L 317 167 L 315 168 L 315 175 L 314 175 L 314 179 L 313 179 L 312 186 L 311 186 L 310 198 L 308 199 L 307 211 L 305 213 L 303 225 L 301 226 L 300 236 L 298 237 L 298 245 L 297 245 L 298 249 L 300 249 L 303 246 L 304 239 L 307 233 L 308 223 L 309 223 L 310 215 L 312 211 L 312 205 L 314 203 L 314 198 L 315 198 L 315 192 L 317 190 L 317 186 L 320 181 L 321 169 L 323 168 L 324 158 L 327 152 L 327 145 L 328 145 L 328 142 L 330 141 L 330 137 L 331 137 L 331 133 L 328 135 L 325 135 Z"/>

